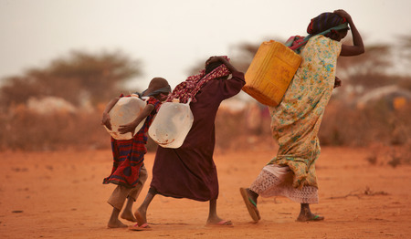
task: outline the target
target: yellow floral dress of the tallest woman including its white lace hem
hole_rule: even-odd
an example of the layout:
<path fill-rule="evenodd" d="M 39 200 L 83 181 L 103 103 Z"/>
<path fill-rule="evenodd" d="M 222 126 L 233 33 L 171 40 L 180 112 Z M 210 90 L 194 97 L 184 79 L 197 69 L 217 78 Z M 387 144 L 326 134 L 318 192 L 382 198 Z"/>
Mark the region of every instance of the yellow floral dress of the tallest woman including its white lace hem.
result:
<path fill-rule="evenodd" d="M 279 106 L 269 108 L 279 152 L 251 183 L 251 191 L 262 197 L 286 196 L 297 203 L 318 203 L 317 133 L 332 95 L 340 51 L 341 43 L 326 36 L 312 36 L 302 49 L 300 68 L 284 98 Z"/>

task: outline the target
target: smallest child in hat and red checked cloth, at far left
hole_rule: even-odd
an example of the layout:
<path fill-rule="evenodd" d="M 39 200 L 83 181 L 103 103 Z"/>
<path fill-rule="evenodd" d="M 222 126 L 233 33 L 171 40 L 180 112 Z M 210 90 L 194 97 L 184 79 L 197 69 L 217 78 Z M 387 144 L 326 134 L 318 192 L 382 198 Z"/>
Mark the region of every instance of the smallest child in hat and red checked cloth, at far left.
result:
<path fill-rule="evenodd" d="M 161 101 L 166 99 L 171 88 L 164 78 L 153 78 L 149 88 L 144 90 L 140 97 L 148 97 L 146 106 L 131 123 L 121 125 L 119 131 L 121 134 L 134 132 L 135 128 L 144 120 L 142 129 L 139 130 L 131 140 L 115 140 L 111 137 L 111 150 L 113 155 L 113 167 L 111 175 L 104 179 L 103 183 L 117 184 L 114 192 L 108 202 L 111 204 L 112 213 L 108 227 L 127 227 L 119 220 L 119 214 L 122 206 L 128 198 L 126 206 L 121 213 L 121 218 L 136 222 L 132 213 L 132 203 L 134 203 L 142 191 L 142 185 L 147 180 L 147 171 L 144 167 L 144 154 L 147 152 L 145 144 L 147 143 L 147 130 L 153 122 L 154 115 L 161 105 Z M 122 97 L 122 95 L 121 95 Z M 111 130 L 111 119 L 109 112 L 121 98 L 111 99 L 104 109 L 102 124 Z"/>

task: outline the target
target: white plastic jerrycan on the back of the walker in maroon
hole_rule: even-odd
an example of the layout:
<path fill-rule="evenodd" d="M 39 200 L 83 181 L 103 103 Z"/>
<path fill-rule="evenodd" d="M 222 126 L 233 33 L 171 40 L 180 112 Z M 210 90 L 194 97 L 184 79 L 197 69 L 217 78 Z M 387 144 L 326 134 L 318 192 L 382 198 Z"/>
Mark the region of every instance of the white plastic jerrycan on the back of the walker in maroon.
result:
<path fill-rule="evenodd" d="M 178 100 L 178 99 L 177 99 Z M 187 103 L 165 102 L 149 129 L 150 137 L 163 148 L 179 148 L 193 125 L 194 117 Z"/>

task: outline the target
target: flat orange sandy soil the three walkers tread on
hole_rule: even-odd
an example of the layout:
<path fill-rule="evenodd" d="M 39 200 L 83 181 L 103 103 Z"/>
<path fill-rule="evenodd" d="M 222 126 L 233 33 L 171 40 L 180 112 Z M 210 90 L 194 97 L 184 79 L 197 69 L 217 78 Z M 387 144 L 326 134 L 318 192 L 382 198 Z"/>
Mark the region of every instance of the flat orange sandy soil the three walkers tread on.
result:
<path fill-rule="evenodd" d="M 411 238 L 411 166 L 372 165 L 368 149 L 322 149 L 320 203 L 311 210 L 325 221 L 295 222 L 300 204 L 277 197 L 259 199 L 262 219 L 252 223 L 238 188 L 274 153 L 216 152 L 217 211 L 234 226 L 206 227 L 208 203 L 156 196 L 148 212 L 153 231 L 135 232 L 107 228 L 115 185 L 101 182 L 111 151 L 0 152 L 0 238 Z M 153 157 L 145 160 L 150 174 Z"/>

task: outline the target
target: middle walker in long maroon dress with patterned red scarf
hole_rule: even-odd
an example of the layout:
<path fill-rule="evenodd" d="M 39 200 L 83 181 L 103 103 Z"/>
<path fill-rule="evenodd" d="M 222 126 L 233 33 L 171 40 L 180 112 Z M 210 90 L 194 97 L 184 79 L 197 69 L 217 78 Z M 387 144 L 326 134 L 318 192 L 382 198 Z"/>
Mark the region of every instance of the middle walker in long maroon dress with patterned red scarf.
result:
<path fill-rule="evenodd" d="M 228 75 L 232 74 L 231 78 Z M 224 99 L 237 95 L 245 84 L 244 74 L 234 68 L 227 57 L 210 57 L 205 70 L 187 78 L 174 88 L 167 101 L 188 99 L 194 122 L 183 145 L 178 149 L 158 147 L 153 180 L 142 205 L 134 213 L 138 225 L 131 230 L 146 230 L 147 208 L 155 195 L 209 202 L 207 225 L 231 225 L 216 213 L 218 179 L 213 160 L 216 141 L 217 109 Z"/>

